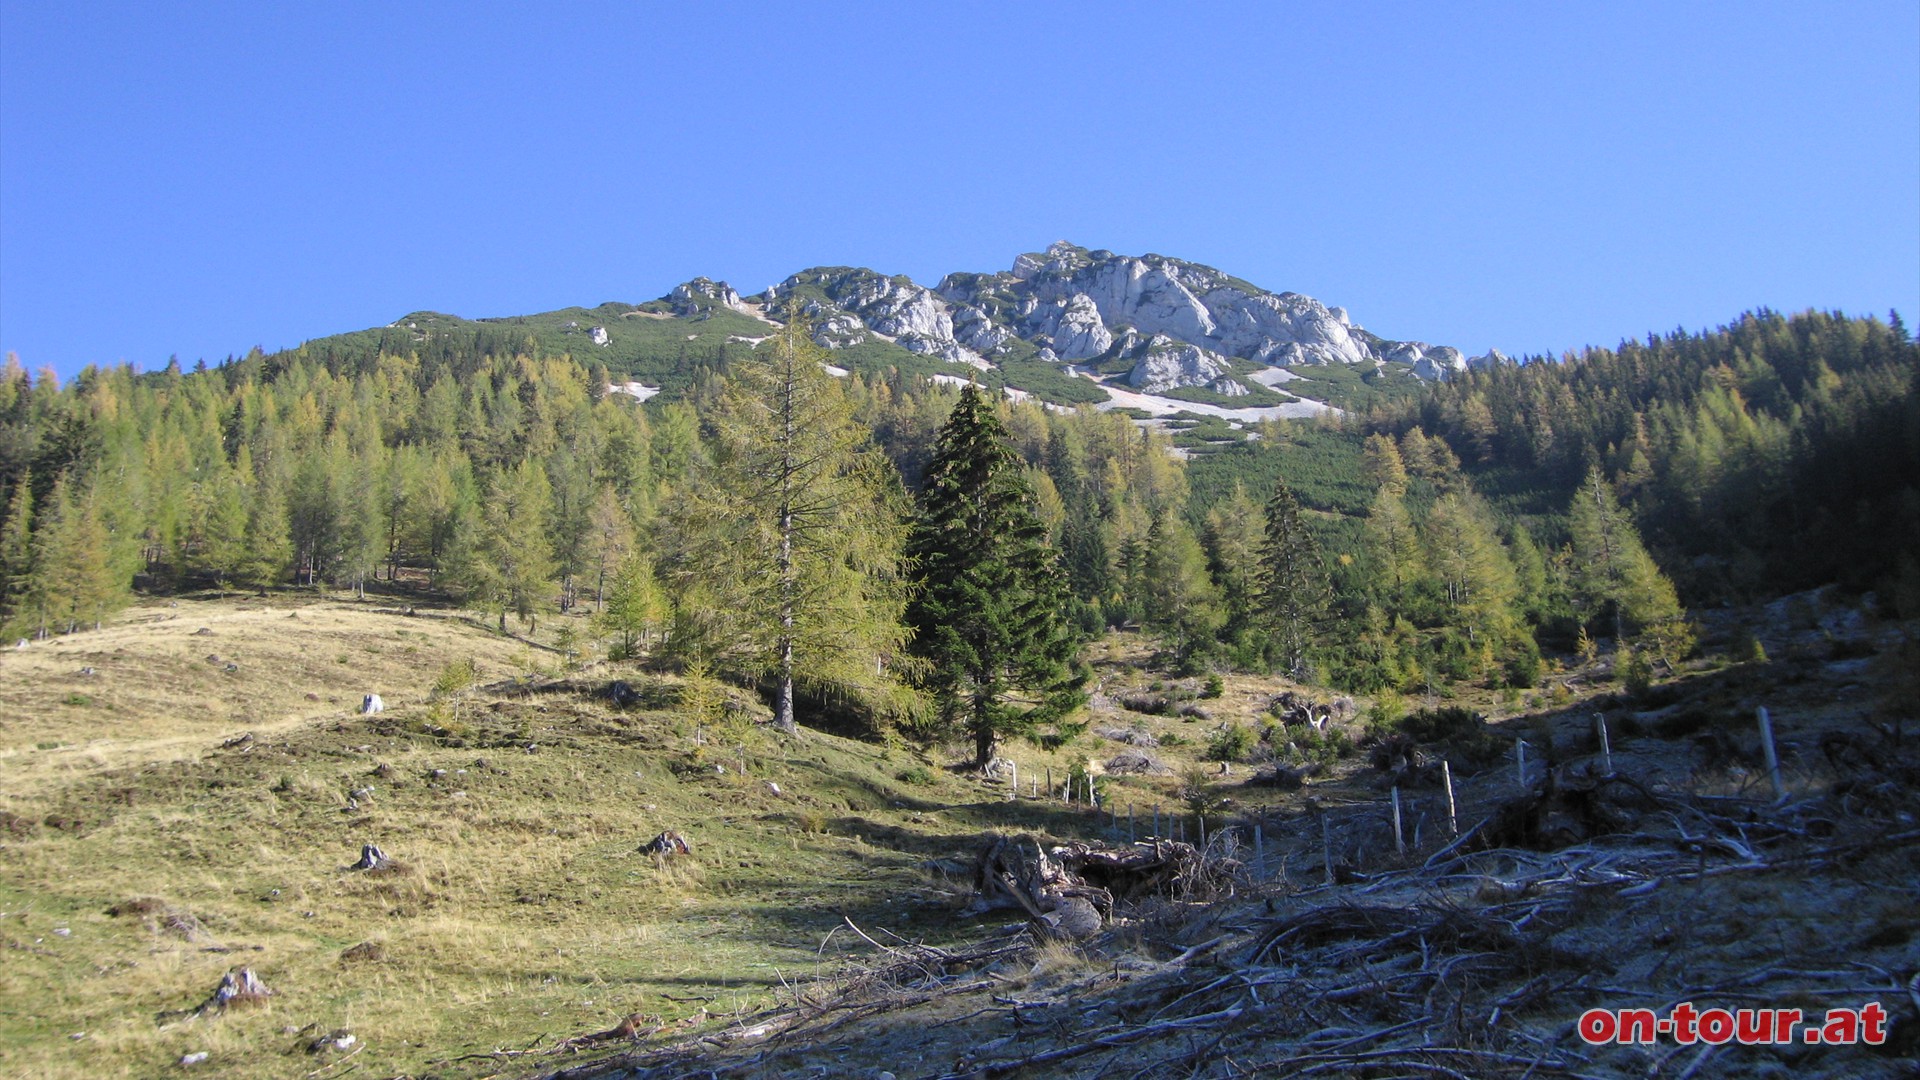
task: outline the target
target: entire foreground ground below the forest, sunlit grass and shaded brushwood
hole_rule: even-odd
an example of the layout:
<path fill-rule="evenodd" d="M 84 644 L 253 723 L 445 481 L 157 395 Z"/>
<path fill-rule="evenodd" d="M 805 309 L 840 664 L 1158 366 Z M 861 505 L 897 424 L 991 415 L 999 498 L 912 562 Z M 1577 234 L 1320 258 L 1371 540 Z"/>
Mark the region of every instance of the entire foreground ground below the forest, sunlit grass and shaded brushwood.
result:
<path fill-rule="evenodd" d="M 1396 851 L 1365 751 L 1321 753 L 1300 790 L 1235 767 L 1208 784 L 1233 799 L 1212 821 L 1231 886 L 1123 901 L 1077 944 L 960 919 L 952 863 L 995 830 L 1121 844 L 1125 819 L 1006 801 L 945 767 L 958 751 L 785 742 L 743 700 L 689 724 L 670 676 L 563 673 L 447 613 L 138 609 L 0 653 L 0 1072 L 1910 1076 L 1920 749 L 1895 721 L 1914 665 L 1899 626 L 1820 603 L 1768 623 L 1770 661 L 1699 665 L 1653 701 L 1603 671 L 1463 698 L 1498 734 L 1486 757 L 1430 748 L 1453 763 L 1463 840 L 1407 776 Z M 1094 726 L 1152 736 L 1175 773 L 1286 690 L 1233 676 L 1204 719 L 1142 715 L 1123 703 L 1181 682 L 1131 636 L 1100 650 Z M 428 701 L 455 657 L 488 686 Z M 639 700 L 609 701 L 609 678 Z M 388 713 L 353 715 L 369 690 Z M 1500 757 L 1515 736 L 1551 784 L 1538 763 L 1519 784 Z M 1012 749 L 1027 790 L 1133 746 Z M 1183 782 L 1112 776 L 1108 807 L 1131 803 L 1144 834 Z M 1261 826 L 1260 857 L 1223 844 L 1225 821 Z M 693 853 L 637 849 L 664 828 Z M 397 865 L 348 869 L 365 842 Z M 238 967 L 273 995 L 194 1015 Z M 1574 1034 L 1588 1007 L 1678 1001 L 1880 1001 L 1893 1022 L 1884 1047 Z"/>

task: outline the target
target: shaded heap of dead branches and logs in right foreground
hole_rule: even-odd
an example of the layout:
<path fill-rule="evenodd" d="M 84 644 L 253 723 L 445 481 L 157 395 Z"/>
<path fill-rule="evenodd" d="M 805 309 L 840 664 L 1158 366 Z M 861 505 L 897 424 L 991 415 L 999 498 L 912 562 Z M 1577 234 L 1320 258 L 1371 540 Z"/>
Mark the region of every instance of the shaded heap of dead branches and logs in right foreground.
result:
<path fill-rule="evenodd" d="M 1125 930 L 1077 942 L 1091 963 L 1048 969 L 1039 926 L 941 949 L 849 924 L 874 949 L 851 974 L 722 1032 L 555 1076 L 856 1063 L 943 1080 L 1907 1076 L 1920 1067 L 1920 970 L 1901 897 L 1920 880 L 1920 798 L 1897 784 L 1910 755 L 1885 757 L 1797 801 L 1561 769 L 1473 805 L 1471 828 L 1409 855 L 1380 844 L 1375 805 L 1315 807 L 1284 844 L 1269 822 L 1286 847 L 1277 880 L 1212 905 L 1127 903 L 1206 872 L 1185 844 L 996 836 L 975 859 L 979 905 L 1035 922 L 1068 899 L 1117 905 Z M 1342 838 L 1373 857 L 1315 884 Z M 1728 920 L 1774 930 L 1722 932 Z M 1574 1019 L 1611 1001 L 1880 1001 L 1891 1022 L 1884 1047 L 1582 1043 Z"/>

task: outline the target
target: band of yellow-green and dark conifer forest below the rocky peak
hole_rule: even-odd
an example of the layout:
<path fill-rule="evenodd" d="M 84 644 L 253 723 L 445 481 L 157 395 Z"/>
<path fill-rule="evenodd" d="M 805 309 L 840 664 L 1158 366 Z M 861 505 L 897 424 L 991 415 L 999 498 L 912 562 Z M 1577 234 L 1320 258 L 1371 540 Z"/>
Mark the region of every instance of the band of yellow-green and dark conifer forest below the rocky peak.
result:
<path fill-rule="evenodd" d="M 973 724 L 985 755 L 1071 711 L 1062 642 L 1106 626 L 1187 671 L 1421 692 L 1532 686 L 1597 642 L 1630 671 L 1678 663 L 1684 603 L 1826 580 L 1920 613 L 1920 361 L 1897 319 L 1761 311 L 1476 369 L 1190 463 L 1116 413 L 833 379 L 804 334 L 693 344 L 645 404 L 509 327 L 69 382 L 10 357 L 0 623 L 303 586 L 449 600 L 503 632 L 591 613 L 561 621 L 564 648 Z M 966 540 L 987 505 L 1010 517 Z M 1018 600 L 1020 663 L 952 680 L 985 648 L 956 628 L 977 603 L 929 567 L 985 567 L 970 588 Z"/>

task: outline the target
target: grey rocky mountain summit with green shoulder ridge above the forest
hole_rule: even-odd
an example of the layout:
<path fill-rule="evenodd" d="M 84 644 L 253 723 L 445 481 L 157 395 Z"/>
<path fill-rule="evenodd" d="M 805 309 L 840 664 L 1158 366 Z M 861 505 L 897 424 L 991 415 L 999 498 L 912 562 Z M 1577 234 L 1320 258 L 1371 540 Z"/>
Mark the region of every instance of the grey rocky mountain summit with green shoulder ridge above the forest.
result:
<path fill-rule="evenodd" d="M 797 302 L 835 367 L 973 379 L 1052 405 L 1171 415 L 1192 404 L 1235 427 L 1411 394 L 1498 354 L 1392 342 L 1298 292 L 1267 292 L 1213 267 L 1058 242 L 998 273 L 950 273 L 937 288 L 866 267 L 808 267 L 751 298 L 693 279 L 647 304 L 461 319 L 417 311 L 388 327 L 307 342 L 323 359 L 378 352 L 570 354 L 616 379 L 676 392 L 724 367 Z M 1315 396 L 1277 386 L 1306 373 Z M 1300 390 L 1298 386 L 1294 390 Z"/>

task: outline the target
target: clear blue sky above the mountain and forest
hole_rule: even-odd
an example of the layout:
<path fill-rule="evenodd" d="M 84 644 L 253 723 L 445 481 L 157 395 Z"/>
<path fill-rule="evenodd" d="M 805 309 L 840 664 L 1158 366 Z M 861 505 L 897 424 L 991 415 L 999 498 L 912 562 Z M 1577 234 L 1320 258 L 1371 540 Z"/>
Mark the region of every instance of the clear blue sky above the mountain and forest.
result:
<path fill-rule="evenodd" d="M 1920 4 L 0 0 L 35 369 L 1058 238 L 1471 354 L 1920 327 Z"/>

